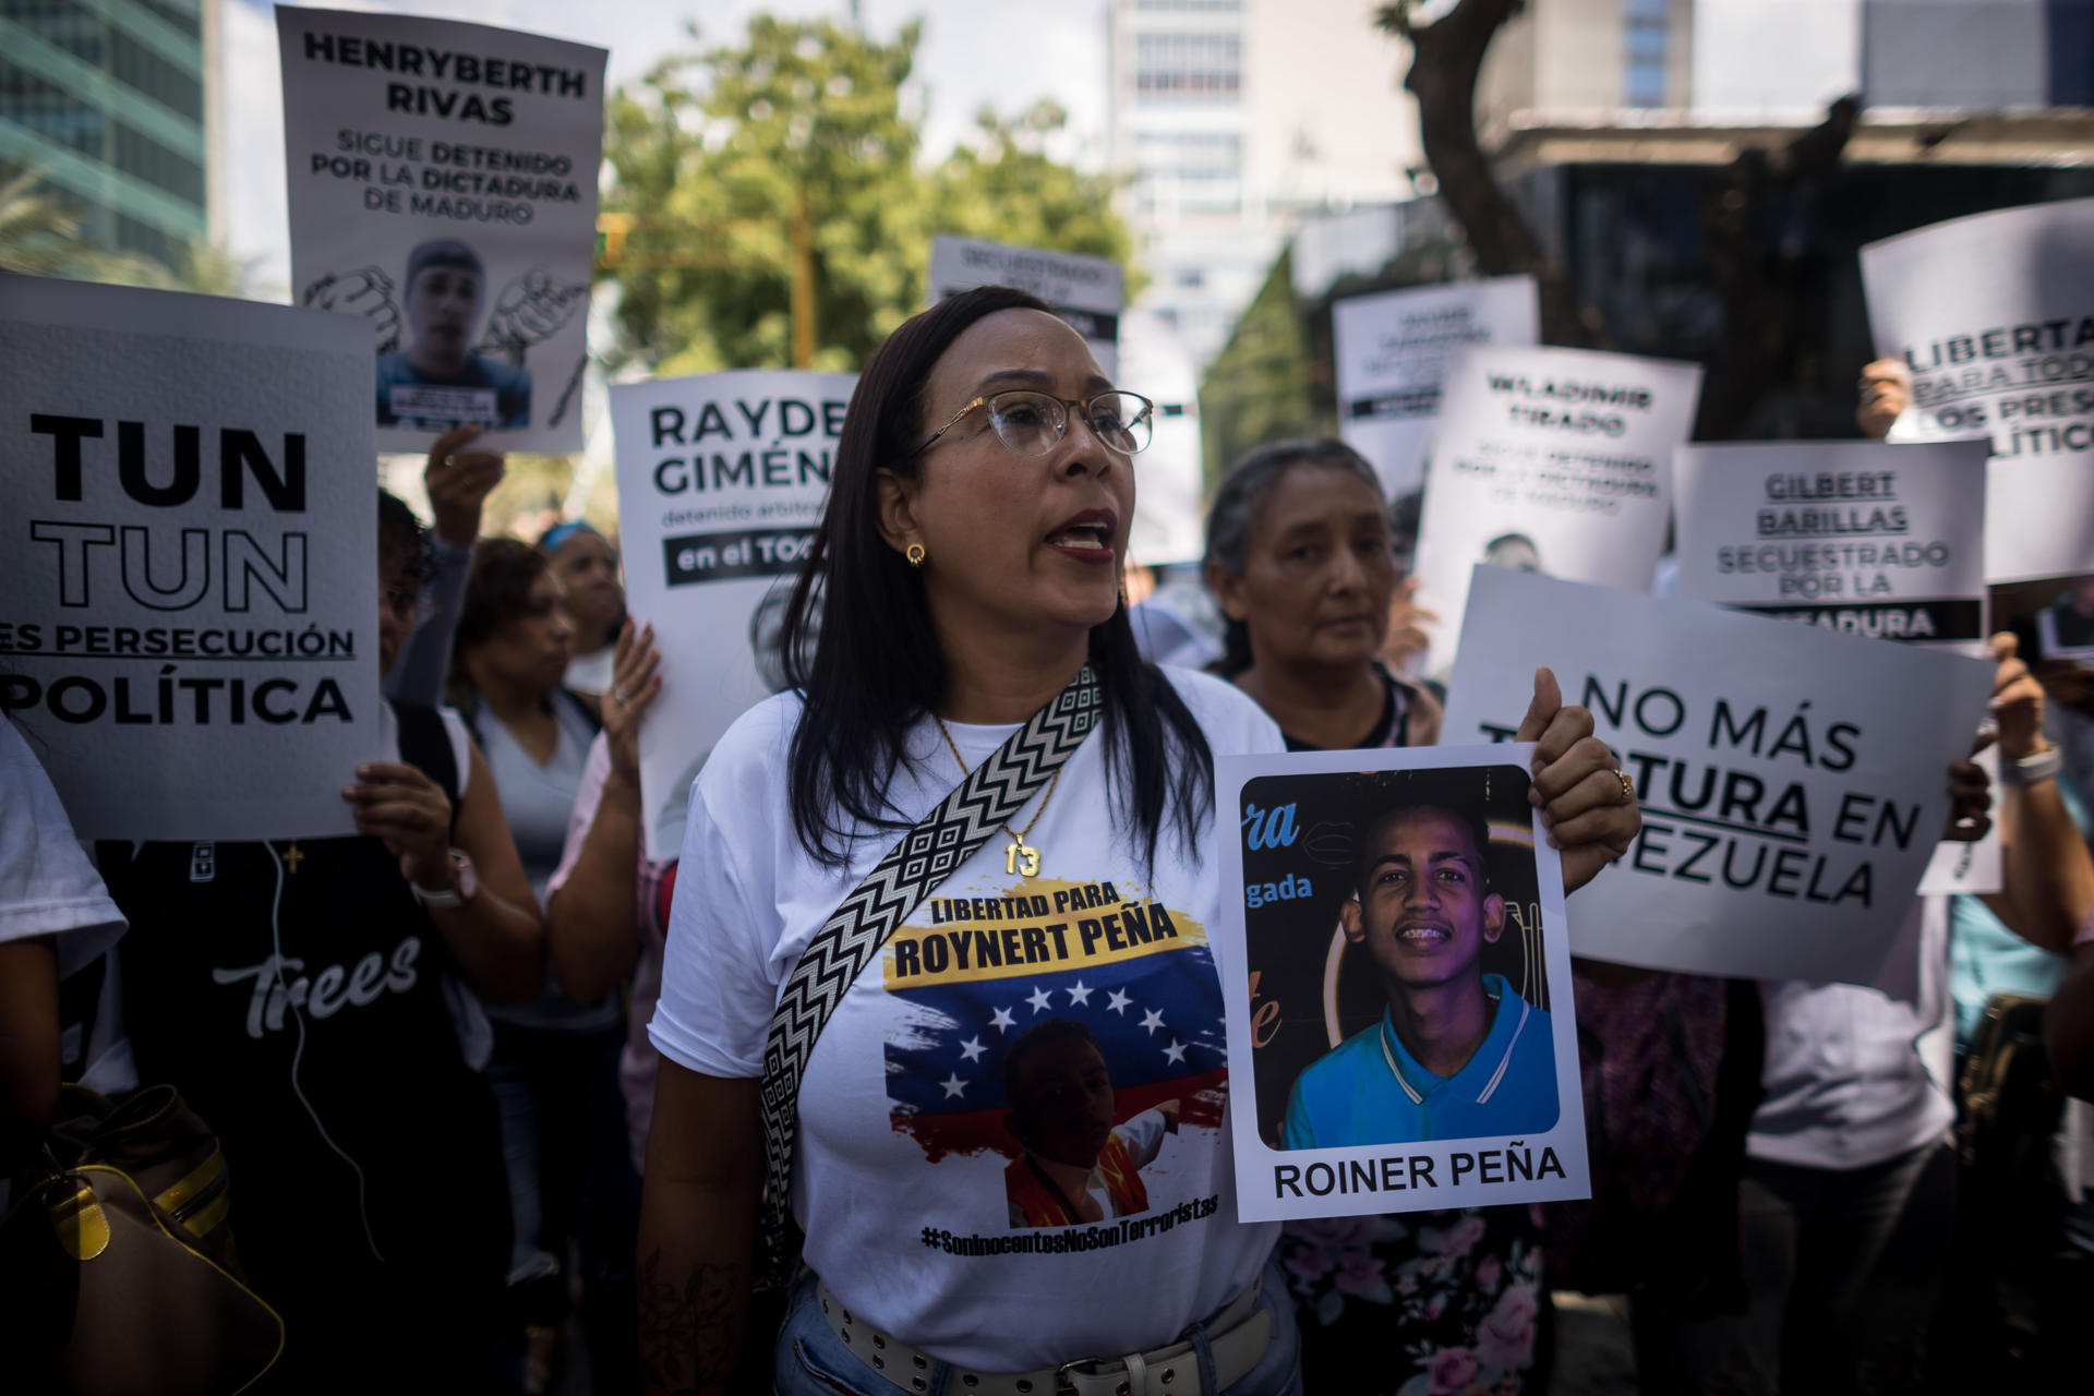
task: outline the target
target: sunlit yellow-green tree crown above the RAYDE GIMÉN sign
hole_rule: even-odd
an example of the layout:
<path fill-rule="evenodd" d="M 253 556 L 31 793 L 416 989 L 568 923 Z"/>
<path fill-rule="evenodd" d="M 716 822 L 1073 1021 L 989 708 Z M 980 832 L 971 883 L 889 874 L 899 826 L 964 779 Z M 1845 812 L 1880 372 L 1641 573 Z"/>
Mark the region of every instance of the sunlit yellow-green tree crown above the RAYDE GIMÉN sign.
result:
<path fill-rule="evenodd" d="M 620 289 L 614 366 L 789 364 L 802 213 L 817 368 L 856 368 L 921 310 L 936 232 L 1127 257 L 1110 182 L 1043 151 L 1064 121 L 1051 103 L 1011 123 L 984 113 L 974 147 L 921 167 L 921 115 L 903 96 L 917 38 L 915 23 L 879 42 L 756 17 L 743 44 L 611 94 L 603 207 L 630 220 L 599 268 Z"/>

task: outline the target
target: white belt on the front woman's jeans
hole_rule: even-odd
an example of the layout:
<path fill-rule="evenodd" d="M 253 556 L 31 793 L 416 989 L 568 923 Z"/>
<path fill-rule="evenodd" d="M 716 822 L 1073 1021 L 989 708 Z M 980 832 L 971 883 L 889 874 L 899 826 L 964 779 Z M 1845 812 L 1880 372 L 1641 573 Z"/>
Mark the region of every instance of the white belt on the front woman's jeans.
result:
<path fill-rule="evenodd" d="M 821 1316 L 852 1356 L 903 1392 L 930 1390 L 930 1371 L 938 1358 L 854 1319 L 821 1281 L 815 1298 L 821 1300 Z M 1215 1310 L 1204 1327 L 1215 1354 L 1215 1392 L 1200 1390 L 1200 1354 L 1189 1342 L 1127 1356 L 1081 1356 L 1020 1373 L 953 1367 L 944 1390 L 955 1396 L 1217 1396 L 1250 1375 L 1273 1344 L 1273 1316 L 1258 1308 L 1256 1281 Z"/>

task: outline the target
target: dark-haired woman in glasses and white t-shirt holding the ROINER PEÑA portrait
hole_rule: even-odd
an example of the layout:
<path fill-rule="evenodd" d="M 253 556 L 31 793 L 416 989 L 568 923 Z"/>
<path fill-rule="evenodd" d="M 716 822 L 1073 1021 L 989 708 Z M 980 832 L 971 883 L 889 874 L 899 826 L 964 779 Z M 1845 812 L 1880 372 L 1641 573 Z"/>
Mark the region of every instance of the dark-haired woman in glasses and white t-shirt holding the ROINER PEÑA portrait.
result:
<path fill-rule="evenodd" d="M 1206 942 L 1212 758 L 1284 743 L 1135 651 L 1148 440 L 1148 400 L 1007 287 L 867 362 L 785 626 L 796 686 L 691 795 L 647 1390 L 733 1390 L 750 1342 L 787 1396 L 1300 1390 L 1277 1229 L 1235 1222 Z M 1554 705 L 1531 728 L 1554 758 L 1581 735 Z M 806 1264 L 777 1333 L 748 1323 L 766 1136 Z"/>

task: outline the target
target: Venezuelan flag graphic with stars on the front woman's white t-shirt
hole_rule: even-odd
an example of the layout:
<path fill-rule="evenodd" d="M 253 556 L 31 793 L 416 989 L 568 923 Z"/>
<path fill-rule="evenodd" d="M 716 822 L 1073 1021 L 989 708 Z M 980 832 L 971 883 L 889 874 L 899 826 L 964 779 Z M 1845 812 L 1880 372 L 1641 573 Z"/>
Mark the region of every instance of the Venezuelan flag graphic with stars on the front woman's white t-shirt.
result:
<path fill-rule="evenodd" d="M 1143 1212 L 1141 1166 L 1166 1134 L 1221 1128 L 1206 927 L 1133 887 L 1032 879 L 934 896 L 894 931 L 882 971 L 907 1005 L 886 1044 L 894 1130 L 932 1164 L 1005 1155 L 1013 1224 Z"/>

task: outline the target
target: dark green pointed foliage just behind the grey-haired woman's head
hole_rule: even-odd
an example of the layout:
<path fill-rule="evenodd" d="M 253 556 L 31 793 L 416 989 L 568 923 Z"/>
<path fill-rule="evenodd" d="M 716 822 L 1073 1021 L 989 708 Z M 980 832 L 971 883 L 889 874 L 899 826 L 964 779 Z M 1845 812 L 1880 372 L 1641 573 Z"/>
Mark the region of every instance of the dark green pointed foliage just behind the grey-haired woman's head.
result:
<path fill-rule="evenodd" d="M 1294 303 L 1294 249 L 1288 247 L 1200 383 L 1208 486 L 1254 446 L 1332 431 L 1334 423 L 1315 410 L 1305 320 Z"/>

